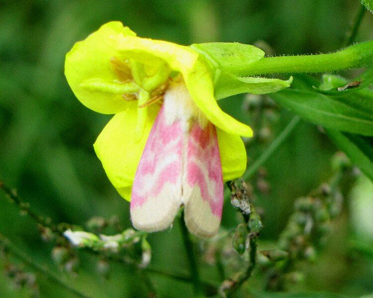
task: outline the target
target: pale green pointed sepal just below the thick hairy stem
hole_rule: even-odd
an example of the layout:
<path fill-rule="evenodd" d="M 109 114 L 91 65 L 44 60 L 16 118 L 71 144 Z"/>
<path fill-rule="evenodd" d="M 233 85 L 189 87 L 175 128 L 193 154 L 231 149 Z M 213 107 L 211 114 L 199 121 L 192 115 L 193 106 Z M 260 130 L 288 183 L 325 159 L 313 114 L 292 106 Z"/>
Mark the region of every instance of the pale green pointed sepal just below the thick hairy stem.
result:
<path fill-rule="evenodd" d="M 221 99 L 240 93 L 266 94 L 280 91 L 290 86 L 292 77 L 288 80 L 265 77 L 240 77 L 221 73 L 215 83 L 215 98 Z"/>

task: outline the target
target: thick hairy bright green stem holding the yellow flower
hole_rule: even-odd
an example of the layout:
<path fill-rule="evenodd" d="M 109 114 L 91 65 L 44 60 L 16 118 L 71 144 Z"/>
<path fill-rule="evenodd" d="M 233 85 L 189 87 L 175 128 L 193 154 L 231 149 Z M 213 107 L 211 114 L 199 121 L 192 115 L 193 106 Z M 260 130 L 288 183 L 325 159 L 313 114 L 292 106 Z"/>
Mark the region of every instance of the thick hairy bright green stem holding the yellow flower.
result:
<path fill-rule="evenodd" d="M 267 57 L 238 75 L 326 73 L 372 64 L 373 41 L 366 41 L 330 54 Z"/>

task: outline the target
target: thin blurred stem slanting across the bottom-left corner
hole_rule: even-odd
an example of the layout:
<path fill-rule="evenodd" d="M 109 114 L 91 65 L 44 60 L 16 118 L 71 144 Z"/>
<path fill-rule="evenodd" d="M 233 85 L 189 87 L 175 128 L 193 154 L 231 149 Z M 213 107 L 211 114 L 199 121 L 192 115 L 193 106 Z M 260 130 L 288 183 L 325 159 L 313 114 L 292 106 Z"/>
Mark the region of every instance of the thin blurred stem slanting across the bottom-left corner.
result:
<path fill-rule="evenodd" d="M 72 288 L 70 285 L 59 279 L 57 276 L 55 276 L 53 273 L 49 272 L 47 269 L 43 268 L 39 264 L 35 263 L 29 256 L 24 254 L 20 249 L 15 247 L 14 244 L 10 242 L 10 240 L 6 237 L 4 237 L 2 234 L 0 234 L 0 244 L 3 245 L 6 249 L 10 251 L 12 255 L 20 259 L 23 263 L 25 263 L 27 266 L 33 268 L 36 271 L 41 272 L 44 274 L 47 278 L 54 281 L 55 283 L 59 284 L 69 292 L 75 294 L 78 297 L 84 297 L 89 298 L 89 296 L 80 293 L 79 291 Z"/>

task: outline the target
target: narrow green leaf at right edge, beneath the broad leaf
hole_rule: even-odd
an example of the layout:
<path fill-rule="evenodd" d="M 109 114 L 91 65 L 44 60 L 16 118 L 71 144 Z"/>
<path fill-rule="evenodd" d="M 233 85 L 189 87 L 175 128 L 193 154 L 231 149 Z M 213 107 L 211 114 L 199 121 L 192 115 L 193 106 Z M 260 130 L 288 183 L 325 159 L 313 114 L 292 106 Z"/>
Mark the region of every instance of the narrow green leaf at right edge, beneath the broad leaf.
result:
<path fill-rule="evenodd" d="M 326 130 L 329 138 L 373 181 L 373 139 Z"/>

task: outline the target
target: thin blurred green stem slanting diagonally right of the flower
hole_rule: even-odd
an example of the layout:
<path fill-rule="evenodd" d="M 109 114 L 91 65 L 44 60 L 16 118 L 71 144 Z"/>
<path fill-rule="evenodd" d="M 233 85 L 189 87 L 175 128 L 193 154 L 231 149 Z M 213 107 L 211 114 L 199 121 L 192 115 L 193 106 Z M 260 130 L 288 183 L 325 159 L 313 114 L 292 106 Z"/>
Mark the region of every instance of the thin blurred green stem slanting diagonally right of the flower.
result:
<path fill-rule="evenodd" d="M 300 118 L 295 116 L 289 124 L 283 129 L 279 136 L 271 143 L 271 145 L 265 149 L 262 155 L 255 160 L 255 162 L 246 170 L 246 172 L 242 175 L 242 178 L 247 181 L 250 179 L 255 172 L 259 169 L 259 167 L 267 161 L 267 159 L 280 147 L 280 145 L 287 139 L 287 137 L 291 134 L 294 128 L 298 125 Z"/>

